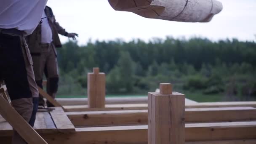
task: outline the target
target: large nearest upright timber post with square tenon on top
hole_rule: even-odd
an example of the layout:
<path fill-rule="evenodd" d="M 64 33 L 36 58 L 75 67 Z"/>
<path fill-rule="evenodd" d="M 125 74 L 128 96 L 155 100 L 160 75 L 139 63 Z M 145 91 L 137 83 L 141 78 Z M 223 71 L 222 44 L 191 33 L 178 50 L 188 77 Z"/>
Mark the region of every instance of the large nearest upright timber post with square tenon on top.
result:
<path fill-rule="evenodd" d="M 148 144 L 185 144 L 185 96 L 160 83 L 160 93 L 148 93 Z"/>

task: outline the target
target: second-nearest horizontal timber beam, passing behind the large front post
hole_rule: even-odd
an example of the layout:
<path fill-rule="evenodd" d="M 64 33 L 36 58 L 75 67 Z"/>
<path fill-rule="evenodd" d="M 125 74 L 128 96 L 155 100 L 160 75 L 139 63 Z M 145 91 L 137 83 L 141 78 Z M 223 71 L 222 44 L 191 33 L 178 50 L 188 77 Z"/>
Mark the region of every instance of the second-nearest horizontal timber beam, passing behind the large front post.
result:
<path fill-rule="evenodd" d="M 224 108 L 192 108 L 185 109 L 186 123 L 195 122 L 232 122 L 256 120 L 256 108 L 224 107 Z M 66 112 L 76 127 L 147 125 L 147 110 L 117 110 Z"/>

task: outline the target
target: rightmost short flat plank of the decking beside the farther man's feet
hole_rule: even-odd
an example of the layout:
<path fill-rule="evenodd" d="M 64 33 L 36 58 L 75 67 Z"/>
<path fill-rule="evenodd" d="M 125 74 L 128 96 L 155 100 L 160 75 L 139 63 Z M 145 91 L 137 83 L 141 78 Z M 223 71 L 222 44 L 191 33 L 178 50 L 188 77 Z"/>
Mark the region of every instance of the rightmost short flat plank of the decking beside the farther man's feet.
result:
<path fill-rule="evenodd" d="M 55 107 L 55 110 L 51 111 L 50 114 L 56 125 L 57 131 L 61 133 L 75 133 L 74 125 L 61 107 Z"/>

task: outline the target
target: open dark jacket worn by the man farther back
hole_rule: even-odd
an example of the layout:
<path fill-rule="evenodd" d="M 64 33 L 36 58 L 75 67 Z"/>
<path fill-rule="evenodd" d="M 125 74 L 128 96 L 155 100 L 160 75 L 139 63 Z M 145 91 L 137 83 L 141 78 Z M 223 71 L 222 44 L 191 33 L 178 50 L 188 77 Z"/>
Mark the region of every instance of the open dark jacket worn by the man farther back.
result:
<path fill-rule="evenodd" d="M 61 47 L 61 41 L 59 39 L 59 35 L 65 35 L 67 36 L 67 32 L 64 28 L 62 28 L 58 22 L 56 22 L 56 19 L 53 15 L 53 11 L 50 7 L 45 7 L 45 14 L 48 16 L 48 21 L 53 33 L 53 44 L 56 48 Z M 31 35 L 27 36 L 27 44 L 29 46 L 29 50 L 31 53 L 40 53 L 40 45 L 41 45 L 41 24 L 38 24 L 37 28 L 34 30 L 34 32 Z"/>

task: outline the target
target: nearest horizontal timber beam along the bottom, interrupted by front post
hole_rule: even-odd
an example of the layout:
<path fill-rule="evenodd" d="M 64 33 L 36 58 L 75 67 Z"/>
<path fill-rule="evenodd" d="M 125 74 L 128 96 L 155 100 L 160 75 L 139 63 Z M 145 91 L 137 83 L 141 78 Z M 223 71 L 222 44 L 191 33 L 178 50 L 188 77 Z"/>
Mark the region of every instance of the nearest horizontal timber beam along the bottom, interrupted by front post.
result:
<path fill-rule="evenodd" d="M 256 141 L 256 122 L 197 123 L 185 127 L 186 144 L 255 144 Z M 42 136 L 49 144 L 147 144 L 147 125 L 76 128 L 76 133 Z M 10 137 L 0 139 L 10 144 Z"/>

